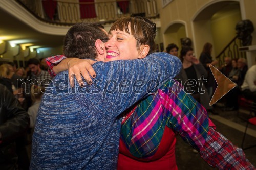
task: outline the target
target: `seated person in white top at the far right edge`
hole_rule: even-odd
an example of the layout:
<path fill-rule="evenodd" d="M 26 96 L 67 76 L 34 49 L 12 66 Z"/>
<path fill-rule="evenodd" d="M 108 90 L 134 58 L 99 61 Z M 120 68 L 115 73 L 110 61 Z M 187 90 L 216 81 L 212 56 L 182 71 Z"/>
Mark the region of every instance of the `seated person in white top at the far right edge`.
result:
<path fill-rule="evenodd" d="M 241 90 L 245 98 L 256 102 L 256 65 L 251 66 L 246 72 Z"/>

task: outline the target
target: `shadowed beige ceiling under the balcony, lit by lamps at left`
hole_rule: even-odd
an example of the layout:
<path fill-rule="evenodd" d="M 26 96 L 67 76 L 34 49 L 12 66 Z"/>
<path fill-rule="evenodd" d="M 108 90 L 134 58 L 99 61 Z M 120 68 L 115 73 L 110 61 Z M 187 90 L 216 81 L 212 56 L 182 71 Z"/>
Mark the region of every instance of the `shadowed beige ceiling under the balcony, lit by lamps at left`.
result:
<path fill-rule="evenodd" d="M 2 8 L 0 8 L 0 23 L 0 37 L 7 37 L 8 40 L 27 39 L 28 43 L 43 47 L 57 47 L 63 43 L 64 36 L 38 32 Z"/>

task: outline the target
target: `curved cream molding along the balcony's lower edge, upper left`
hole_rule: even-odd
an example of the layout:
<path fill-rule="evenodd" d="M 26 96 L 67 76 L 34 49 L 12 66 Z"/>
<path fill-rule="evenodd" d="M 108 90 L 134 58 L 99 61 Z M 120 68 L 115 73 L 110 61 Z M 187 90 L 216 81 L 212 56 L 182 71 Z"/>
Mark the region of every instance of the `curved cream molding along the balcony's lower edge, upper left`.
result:
<path fill-rule="evenodd" d="M 1 0 L 0 8 L 41 33 L 65 35 L 70 28 L 70 26 L 56 26 L 40 21 L 14 0 Z"/>

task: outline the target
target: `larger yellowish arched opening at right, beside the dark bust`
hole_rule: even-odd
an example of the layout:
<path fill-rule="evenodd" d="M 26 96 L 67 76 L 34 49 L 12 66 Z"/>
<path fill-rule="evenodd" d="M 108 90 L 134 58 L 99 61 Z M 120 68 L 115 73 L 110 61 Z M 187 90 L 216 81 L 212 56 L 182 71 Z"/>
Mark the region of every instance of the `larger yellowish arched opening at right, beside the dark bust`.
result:
<path fill-rule="evenodd" d="M 197 56 L 203 45 L 213 45 L 212 57 L 217 56 L 236 36 L 236 24 L 242 20 L 239 1 L 213 1 L 193 17 L 193 39 Z"/>

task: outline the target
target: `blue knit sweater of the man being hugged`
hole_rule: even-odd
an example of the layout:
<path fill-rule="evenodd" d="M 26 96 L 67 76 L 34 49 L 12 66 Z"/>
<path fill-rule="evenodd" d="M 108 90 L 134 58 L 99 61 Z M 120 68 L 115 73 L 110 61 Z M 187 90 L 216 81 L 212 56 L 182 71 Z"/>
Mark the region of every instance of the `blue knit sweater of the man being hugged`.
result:
<path fill-rule="evenodd" d="M 143 60 L 97 62 L 94 84 L 83 88 L 78 82 L 71 88 L 68 72 L 60 72 L 37 113 L 30 169 L 116 169 L 118 115 L 157 89 L 150 82 L 162 85 L 181 66 L 177 57 L 161 52 Z"/>

